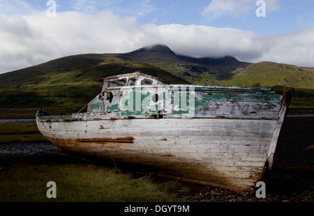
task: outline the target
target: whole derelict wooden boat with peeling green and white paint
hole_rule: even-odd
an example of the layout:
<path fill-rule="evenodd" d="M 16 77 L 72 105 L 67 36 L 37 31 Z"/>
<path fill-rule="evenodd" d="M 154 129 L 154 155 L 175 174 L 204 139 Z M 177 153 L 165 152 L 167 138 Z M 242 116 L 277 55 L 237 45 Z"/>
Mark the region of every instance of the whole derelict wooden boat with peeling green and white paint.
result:
<path fill-rule="evenodd" d="M 255 190 L 271 169 L 292 91 L 167 84 L 134 72 L 104 79 L 87 111 L 49 116 L 40 132 L 59 153 L 144 164 L 181 180 Z"/>

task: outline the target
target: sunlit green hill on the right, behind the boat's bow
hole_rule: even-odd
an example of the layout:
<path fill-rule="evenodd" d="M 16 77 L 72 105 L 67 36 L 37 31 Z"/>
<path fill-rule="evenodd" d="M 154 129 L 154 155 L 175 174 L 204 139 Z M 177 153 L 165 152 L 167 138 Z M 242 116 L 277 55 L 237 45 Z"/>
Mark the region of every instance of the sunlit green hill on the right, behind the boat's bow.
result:
<path fill-rule="evenodd" d="M 314 68 L 262 61 L 246 68 L 237 68 L 224 79 L 225 86 L 271 87 L 278 93 L 283 87 L 294 88 L 293 107 L 314 107 Z"/>

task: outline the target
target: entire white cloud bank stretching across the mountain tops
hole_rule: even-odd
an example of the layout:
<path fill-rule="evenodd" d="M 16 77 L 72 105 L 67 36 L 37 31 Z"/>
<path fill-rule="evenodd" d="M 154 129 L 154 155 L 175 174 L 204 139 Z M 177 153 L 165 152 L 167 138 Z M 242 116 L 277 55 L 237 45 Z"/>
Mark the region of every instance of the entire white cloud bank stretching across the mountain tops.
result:
<path fill-rule="evenodd" d="M 314 67 L 314 28 L 266 36 L 237 29 L 167 24 L 139 26 L 133 17 L 110 11 L 95 15 L 45 11 L 0 16 L 0 72 L 36 65 L 61 56 L 123 53 L 156 43 L 177 54 L 234 56 L 239 61 L 276 61 Z"/>

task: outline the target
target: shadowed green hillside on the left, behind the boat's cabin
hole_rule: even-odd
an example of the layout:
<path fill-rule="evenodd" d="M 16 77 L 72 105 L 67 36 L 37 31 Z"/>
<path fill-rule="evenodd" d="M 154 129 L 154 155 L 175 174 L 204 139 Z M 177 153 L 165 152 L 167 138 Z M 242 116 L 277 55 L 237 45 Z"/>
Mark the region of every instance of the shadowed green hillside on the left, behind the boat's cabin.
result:
<path fill-rule="evenodd" d="M 0 75 L 0 107 L 84 106 L 100 92 L 102 78 L 135 71 L 188 84 L 160 68 L 111 54 L 68 56 Z"/>

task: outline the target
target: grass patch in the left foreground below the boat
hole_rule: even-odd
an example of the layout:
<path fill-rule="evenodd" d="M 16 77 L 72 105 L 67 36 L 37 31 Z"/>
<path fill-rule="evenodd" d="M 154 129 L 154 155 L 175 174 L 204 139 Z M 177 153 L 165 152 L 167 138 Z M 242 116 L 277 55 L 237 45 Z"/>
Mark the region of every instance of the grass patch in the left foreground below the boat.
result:
<path fill-rule="evenodd" d="M 96 164 L 19 165 L 1 173 L 0 201 L 15 202 L 142 202 L 178 201 L 168 190 L 177 181 L 154 183 Z M 47 182 L 57 185 L 57 198 L 48 199 Z"/>

